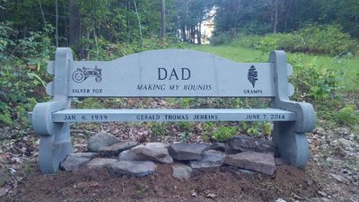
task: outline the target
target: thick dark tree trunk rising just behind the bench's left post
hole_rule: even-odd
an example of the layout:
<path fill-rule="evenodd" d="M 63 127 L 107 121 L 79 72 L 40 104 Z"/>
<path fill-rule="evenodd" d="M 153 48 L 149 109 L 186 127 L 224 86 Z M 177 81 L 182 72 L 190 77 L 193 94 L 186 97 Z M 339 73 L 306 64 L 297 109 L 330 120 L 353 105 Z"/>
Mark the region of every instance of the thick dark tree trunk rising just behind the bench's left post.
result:
<path fill-rule="evenodd" d="M 75 0 L 69 0 L 68 10 L 70 13 L 70 15 L 68 16 L 68 43 L 70 46 L 76 46 L 81 38 L 81 24 L 80 10 L 75 4 Z"/>

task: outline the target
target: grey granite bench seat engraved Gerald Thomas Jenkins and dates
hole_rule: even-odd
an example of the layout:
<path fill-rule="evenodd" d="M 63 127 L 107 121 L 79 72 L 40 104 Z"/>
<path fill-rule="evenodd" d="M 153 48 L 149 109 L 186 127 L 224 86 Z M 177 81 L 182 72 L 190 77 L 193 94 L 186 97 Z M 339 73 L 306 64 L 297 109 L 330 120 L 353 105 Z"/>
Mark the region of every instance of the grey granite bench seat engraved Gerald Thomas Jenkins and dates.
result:
<path fill-rule="evenodd" d="M 295 113 L 279 109 L 70 109 L 52 114 L 53 122 L 109 121 L 294 121 Z"/>

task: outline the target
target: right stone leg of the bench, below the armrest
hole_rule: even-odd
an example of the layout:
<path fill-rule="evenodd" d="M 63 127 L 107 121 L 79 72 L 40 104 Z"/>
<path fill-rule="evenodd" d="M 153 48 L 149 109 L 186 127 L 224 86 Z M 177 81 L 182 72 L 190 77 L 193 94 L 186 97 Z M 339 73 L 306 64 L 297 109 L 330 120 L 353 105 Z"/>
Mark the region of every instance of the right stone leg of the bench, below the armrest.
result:
<path fill-rule="evenodd" d="M 273 141 L 283 159 L 296 167 L 308 162 L 309 144 L 304 133 L 296 133 L 294 122 L 275 122 Z"/>

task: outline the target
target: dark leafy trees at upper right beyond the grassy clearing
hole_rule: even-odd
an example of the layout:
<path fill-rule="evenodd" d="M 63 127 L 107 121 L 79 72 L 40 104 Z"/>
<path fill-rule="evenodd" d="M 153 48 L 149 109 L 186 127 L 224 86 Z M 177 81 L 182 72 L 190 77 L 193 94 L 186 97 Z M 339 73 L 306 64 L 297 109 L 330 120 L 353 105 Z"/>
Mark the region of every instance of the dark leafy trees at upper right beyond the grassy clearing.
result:
<path fill-rule="evenodd" d="M 251 35 L 291 32 L 308 22 L 337 23 L 352 37 L 359 36 L 357 0 L 216 1 L 215 7 L 215 37 L 228 31 Z"/>

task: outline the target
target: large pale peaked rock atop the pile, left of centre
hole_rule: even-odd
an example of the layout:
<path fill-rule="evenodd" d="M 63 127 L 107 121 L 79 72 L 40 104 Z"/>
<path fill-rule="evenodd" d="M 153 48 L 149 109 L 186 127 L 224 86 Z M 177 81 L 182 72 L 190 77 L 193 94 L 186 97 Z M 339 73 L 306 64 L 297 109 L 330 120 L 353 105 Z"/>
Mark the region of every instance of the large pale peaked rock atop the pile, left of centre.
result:
<path fill-rule="evenodd" d="M 173 159 L 168 152 L 168 144 L 148 143 L 137 145 L 130 150 L 118 155 L 118 161 L 151 161 L 159 163 L 173 163 Z"/>

